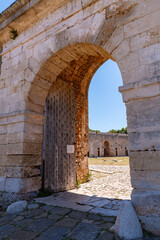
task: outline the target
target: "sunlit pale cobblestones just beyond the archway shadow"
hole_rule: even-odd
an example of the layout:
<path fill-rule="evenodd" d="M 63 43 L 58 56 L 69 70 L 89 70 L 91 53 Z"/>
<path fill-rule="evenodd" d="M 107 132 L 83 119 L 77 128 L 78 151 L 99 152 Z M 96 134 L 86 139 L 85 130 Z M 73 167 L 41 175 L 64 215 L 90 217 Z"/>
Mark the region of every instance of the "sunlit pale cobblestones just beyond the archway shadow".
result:
<path fill-rule="evenodd" d="M 92 181 L 81 186 L 99 197 L 130 199 L 132 192 L 129 166 L 90 165 Z"/>

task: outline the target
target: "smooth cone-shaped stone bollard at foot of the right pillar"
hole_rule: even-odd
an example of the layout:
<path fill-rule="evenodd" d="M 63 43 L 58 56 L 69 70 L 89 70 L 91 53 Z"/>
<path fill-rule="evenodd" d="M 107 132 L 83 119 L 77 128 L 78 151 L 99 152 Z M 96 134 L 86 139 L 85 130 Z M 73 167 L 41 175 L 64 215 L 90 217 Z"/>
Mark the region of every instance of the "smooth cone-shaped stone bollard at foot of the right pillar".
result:
<path fill-rule="evenodd" d="M 123 201 L 116 223 L 112 230 L 122 239 L 142 238 L 142 228 L 133 205 L 130 201 Z"/>

